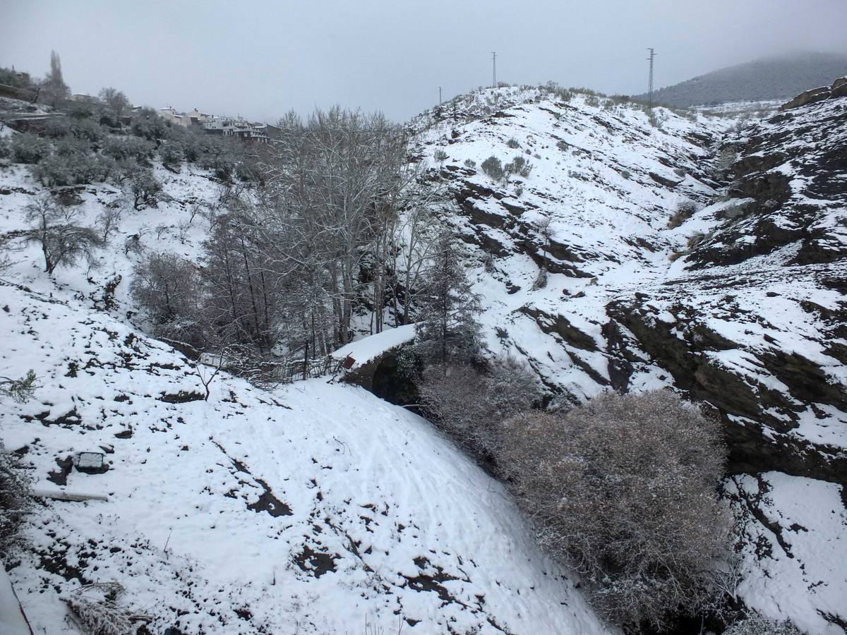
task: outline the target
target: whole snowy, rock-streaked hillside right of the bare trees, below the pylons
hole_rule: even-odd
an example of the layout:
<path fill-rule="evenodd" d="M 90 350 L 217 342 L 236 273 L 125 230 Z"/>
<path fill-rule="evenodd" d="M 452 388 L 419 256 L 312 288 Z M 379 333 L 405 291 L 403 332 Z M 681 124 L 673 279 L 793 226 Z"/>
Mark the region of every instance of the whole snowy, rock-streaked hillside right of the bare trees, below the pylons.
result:
<path fill-rule="evenodd" d="M 457 203 L 443 220 L 468 243 L 490 351 L 523 358 L 557 400 L 673 386 L 715 406 L 729 489 L 758 492 L 737 497 L 759 545 L 739 592 L 809 632 L 847 619 L 844 567 L 829 566 L 847 553 L 845 107 L 741 132 L 656 108 L 657 128 L 603 97 L 500 89 L 423 119 L 419 145 Z M 529 176 L 480 169 L 516 155 Z"/>

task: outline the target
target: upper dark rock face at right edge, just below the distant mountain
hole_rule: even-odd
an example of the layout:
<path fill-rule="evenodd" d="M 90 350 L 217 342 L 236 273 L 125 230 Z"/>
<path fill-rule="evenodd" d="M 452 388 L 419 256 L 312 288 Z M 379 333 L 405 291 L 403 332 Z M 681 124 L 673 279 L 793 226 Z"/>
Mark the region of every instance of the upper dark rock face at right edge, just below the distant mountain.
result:
<path fill-rule="evenodd" d="M 847 99 L 778 114 L 744 130 L 737 142 L 731 193 L 750 200 L 700 243 L 688 258 L 693 267 L 767 254 L 782 264 L 847 256 Z"/>

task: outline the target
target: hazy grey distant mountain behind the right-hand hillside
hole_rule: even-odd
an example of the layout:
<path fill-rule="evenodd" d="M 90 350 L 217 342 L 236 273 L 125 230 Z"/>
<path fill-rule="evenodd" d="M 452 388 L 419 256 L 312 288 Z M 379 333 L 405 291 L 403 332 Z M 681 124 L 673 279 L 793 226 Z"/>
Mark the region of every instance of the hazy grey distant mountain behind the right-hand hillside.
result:
<path fill-rule="evenodd" d="M 798 52 L 729 66 L 653 92 L 653 101 L 686 107 L 790 99 L 847 75 L 847 54 Z M 646 99 L 646 93 L 637 96 Z"/>

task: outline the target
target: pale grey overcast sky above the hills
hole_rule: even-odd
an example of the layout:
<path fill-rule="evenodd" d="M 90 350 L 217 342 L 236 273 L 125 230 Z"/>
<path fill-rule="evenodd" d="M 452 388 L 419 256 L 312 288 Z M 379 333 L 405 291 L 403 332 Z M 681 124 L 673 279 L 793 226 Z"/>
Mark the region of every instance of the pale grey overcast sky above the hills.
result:
<path fill-rule="evenodd" d="M 273 121 L 291 108 L 407 119 L 497 79 L 646 89 L 791 50 L 847 52 L 847 0 L 0 0 L 0 65 L 74 92 Z"/>

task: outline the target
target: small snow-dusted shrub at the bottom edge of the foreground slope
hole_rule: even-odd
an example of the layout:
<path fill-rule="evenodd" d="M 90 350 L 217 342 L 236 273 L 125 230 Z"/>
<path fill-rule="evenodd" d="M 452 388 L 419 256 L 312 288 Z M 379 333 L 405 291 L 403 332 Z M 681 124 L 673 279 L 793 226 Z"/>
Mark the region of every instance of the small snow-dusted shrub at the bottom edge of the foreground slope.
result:
<path fill-rule="evenodd" d="M 85 584 L 64 601 L 91 635 L 131 635 L 137 630 L 135 622 L 149 618 L 119 605 L 123 593 L 124 587 L 116 582 Z"/>

